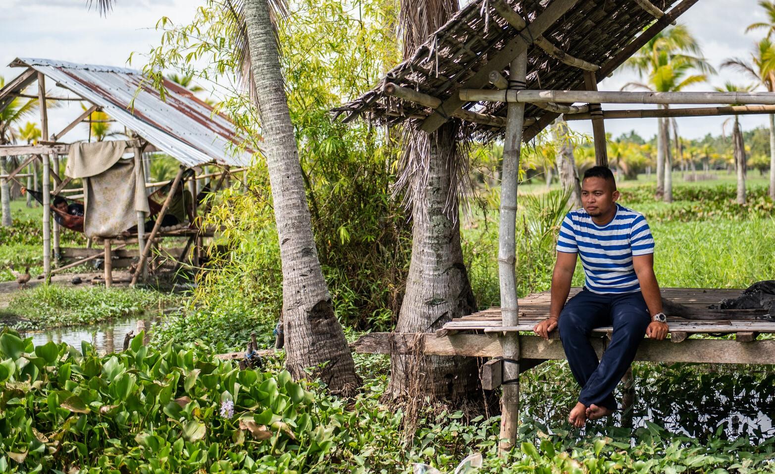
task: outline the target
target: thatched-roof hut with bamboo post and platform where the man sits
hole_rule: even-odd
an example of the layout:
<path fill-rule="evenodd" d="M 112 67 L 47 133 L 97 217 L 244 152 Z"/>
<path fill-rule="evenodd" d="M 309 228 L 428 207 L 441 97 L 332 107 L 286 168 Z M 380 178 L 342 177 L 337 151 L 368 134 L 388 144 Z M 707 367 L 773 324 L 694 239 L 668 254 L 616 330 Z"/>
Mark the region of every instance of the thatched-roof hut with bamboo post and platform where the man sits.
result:
<path fill-rule="evenodd" d="M 501 307 L 449 321 L 435 334 L 372 333 L 355 344 L 365 353 L 490 358 L 482 367 L 481 380 L 486 390 L 502 386 L 503 449 L 513 445 L 517 434 L 519 374 L 549 359 L 565 359 L 556 331 L 549 340 L 532 334 L 533 326 L 549 315 L 549 293 L 519 301 L 516 294 L 521 143 L 560 114 L 566 120 L 591 120 L 596 163 L 608 166 L 606 119 L 775 112 L 775 94 L 770 92 L 597 90 L 602 77 L 697 1 L 661 0 L 658 7 L 648 0 L 475 0 L 433 33 L 412 58 L 390 70 L 377 88 L 335 111 L 345 122 L 358 116 L 387 125 L 412 122 L 429 133 L 448 120 L 460 120 L 472 139 L 504 140 L 498 249 Z M 742 105 L 604 112 L 605 103 Z M 775 323 L 757 321 L 756 310 L 739 310 L 749 311 L 749 318 L 732 321 L 728 313 L 708 309 L 709 304 L 739 296 L 740 290 L 663 288 L 662 294 L 704 318 L 670 318 L 670 339 L 645 340 L 636 360 L 775 363 L 775 340 L 756 340 L 760 333 L 775 333 Z M 598 356 L 611 331 L 594 331 Z M 735 339 L 690 339 L 708 333 L 735 334 Z"/>

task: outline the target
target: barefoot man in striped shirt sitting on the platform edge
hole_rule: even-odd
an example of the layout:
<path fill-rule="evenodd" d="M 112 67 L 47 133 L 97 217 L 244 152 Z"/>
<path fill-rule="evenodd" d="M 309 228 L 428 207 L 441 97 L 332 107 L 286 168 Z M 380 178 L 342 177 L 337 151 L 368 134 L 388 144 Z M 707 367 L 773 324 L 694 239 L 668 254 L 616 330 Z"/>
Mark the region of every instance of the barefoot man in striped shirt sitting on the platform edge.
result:
<path fill-rule="evenodd" d="M 643 335 L 661 340 L 668 330 L 654 275 L 651 230 L 642 214 L 616 204 L 618 197 L 608 167 L 584 173 L 584 208 L 568 212 L 557 240 L 549 318 L 533 328 L 545 339 L 560 328 L 570 370 L 581 386 L 568 417 L 577 428 L 616 410 L 614 389 Z M 577 255 L 586 274 L 584 289 L 566 303 Z M 613 333 L 598 362 L 589 336 L 604 326 L 613 326 Z"/>

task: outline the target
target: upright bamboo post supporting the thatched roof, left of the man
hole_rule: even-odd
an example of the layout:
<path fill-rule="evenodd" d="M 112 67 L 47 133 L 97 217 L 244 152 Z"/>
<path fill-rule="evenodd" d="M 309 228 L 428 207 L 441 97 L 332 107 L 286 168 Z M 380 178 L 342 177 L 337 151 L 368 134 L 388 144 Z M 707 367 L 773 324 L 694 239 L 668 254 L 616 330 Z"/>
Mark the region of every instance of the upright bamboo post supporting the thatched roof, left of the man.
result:
<path fill-rule="evenodd" d="M 520 53 L 509 67 L 509 88 L 524 89 L 527 54 Z M 498 229 L 498 277 L 501 284 L 501 317 L 504 326 L 518 325 L 517 281 L 515 276 L 515 229 L 517 215 L 517 177 L 519 153 L 522 148 L 524 104 L 508 104 L 506 136 L 503 146 L 501 173 L 501 218 Z M 519 359 L 518 333 L 501 338 L 503 345 L 503 394 L 501 396 L 501 455 L 508 452 L 517 438 L 519 420 Z"/>

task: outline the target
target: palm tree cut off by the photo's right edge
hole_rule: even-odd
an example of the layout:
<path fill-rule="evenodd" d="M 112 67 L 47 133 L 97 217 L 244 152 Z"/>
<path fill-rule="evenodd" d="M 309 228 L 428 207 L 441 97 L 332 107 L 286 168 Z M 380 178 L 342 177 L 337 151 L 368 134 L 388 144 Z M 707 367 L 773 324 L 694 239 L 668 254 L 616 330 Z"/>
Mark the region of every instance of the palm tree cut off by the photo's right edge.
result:
<path fill-rule="evenodd" d="M 773 2 L 760 2 L 760 5 L 763 4 L 767 5 L 765 8 L 772 7 L 772 12 L 767 10 L 768 15 L 770 13 L 775 15 Z M 771 16 L 770 18 L 775 21 L 775 17 Z M 746 31 L 753 29 L 752 27 L 758 28 L 757 25 L 760 23 L 750 25 Z M 773 23 L 773 28 L 775 28 L 775 23 Z M 725 60 L 722 67 L 732 67 L 742 71 L 756 83 L 763 85 L 767 91 L 775 92 L 775 43 L 770 40 L 770 34 L 771 32 L 768 32 L 765 39 L 756 43 L 750 60 L 731 58 Z M 775 114 L 770 114 L 770 197 L 775 199 Z"/>

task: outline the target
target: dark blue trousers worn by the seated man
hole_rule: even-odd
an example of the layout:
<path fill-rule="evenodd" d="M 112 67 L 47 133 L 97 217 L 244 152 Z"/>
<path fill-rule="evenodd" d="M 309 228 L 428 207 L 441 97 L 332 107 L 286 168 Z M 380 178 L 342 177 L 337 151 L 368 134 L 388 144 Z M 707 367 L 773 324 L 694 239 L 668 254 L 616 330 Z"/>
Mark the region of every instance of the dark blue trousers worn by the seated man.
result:
<path fill-rule="evenodd" d="M 614 389 L 635 359 L 651 318 L 640 291 L 596 294 L 584 288 L 560 312 L 560 339 L 571 372 L 581 386 L 579 401 L 616 410 Z M 592 329 L 613 326 L 611 343 L 598 362 L 589 336 Z"/>

